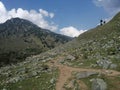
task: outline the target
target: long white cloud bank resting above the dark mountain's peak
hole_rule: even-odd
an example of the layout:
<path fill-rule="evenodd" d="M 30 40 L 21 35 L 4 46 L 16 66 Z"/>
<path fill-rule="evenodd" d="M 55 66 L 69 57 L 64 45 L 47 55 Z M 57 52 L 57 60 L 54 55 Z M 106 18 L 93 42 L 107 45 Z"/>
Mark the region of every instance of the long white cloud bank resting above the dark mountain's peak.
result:
<path fill-rule="evenodd" d="M 57 25 L 50 23 L 46 18 L 53 18 L 54 13 L 49 13 L 46 10 L 39 9 L 39 12 L 36 10 L 24 10 L 22 8 L 7 10 L 4 4 L 0 1 L 0 23 L 4 23 L 6 20 L 11 18 L 23 18 L 33 22 L 41 28 L 49 29 L 52 31 L 57 30 Z"/>

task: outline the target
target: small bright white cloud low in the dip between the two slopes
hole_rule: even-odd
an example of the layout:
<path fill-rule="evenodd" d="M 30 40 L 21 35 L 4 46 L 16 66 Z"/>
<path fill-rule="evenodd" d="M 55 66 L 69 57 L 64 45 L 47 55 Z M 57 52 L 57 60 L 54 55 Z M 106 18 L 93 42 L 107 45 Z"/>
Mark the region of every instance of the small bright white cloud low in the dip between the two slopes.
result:
<path fill-rule="evenodd" d="M 86 30 L 78 30 L 73 26 L 64 27 L 64 28 L 60 29 L 61 34 L 67 35 L 67 36 L 70 36 L 70 37 L 77 37 L 85 31 Z"/>

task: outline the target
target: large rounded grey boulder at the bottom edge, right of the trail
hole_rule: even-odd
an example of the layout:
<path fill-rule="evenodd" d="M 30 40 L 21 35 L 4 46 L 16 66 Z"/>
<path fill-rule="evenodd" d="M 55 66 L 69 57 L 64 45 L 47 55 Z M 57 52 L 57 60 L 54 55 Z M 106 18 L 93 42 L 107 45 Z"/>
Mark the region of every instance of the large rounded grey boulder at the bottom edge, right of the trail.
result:
<path fill-rule="evenodd" d="M 92 81 L 92 90 L 107 90 L 107 84 L 103 79 L 91 79 Z"/>

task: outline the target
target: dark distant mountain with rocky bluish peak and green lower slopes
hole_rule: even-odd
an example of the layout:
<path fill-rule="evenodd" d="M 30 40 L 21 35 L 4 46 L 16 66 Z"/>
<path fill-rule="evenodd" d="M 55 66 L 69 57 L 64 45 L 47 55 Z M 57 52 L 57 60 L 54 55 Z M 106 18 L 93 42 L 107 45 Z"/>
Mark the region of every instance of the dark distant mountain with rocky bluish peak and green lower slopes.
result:
<path fill-rule="evenodd" d="M 12 18 L 0 24 L 0 65 L 24 60 L 71 39 L 42 29 L 30 21 Z"/>

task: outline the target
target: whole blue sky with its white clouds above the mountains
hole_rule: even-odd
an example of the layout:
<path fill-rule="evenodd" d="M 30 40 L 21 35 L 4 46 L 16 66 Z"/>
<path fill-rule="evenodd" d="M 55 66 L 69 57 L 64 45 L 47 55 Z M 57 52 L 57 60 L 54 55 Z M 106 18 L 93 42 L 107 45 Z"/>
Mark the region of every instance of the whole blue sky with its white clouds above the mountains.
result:
<path fill-rule="evenodd" d="M 109 21 L 120 11 L 120 0 L 0 0 L 0 23 L 19 17 L 41 28 L 77 37 Z"/>

